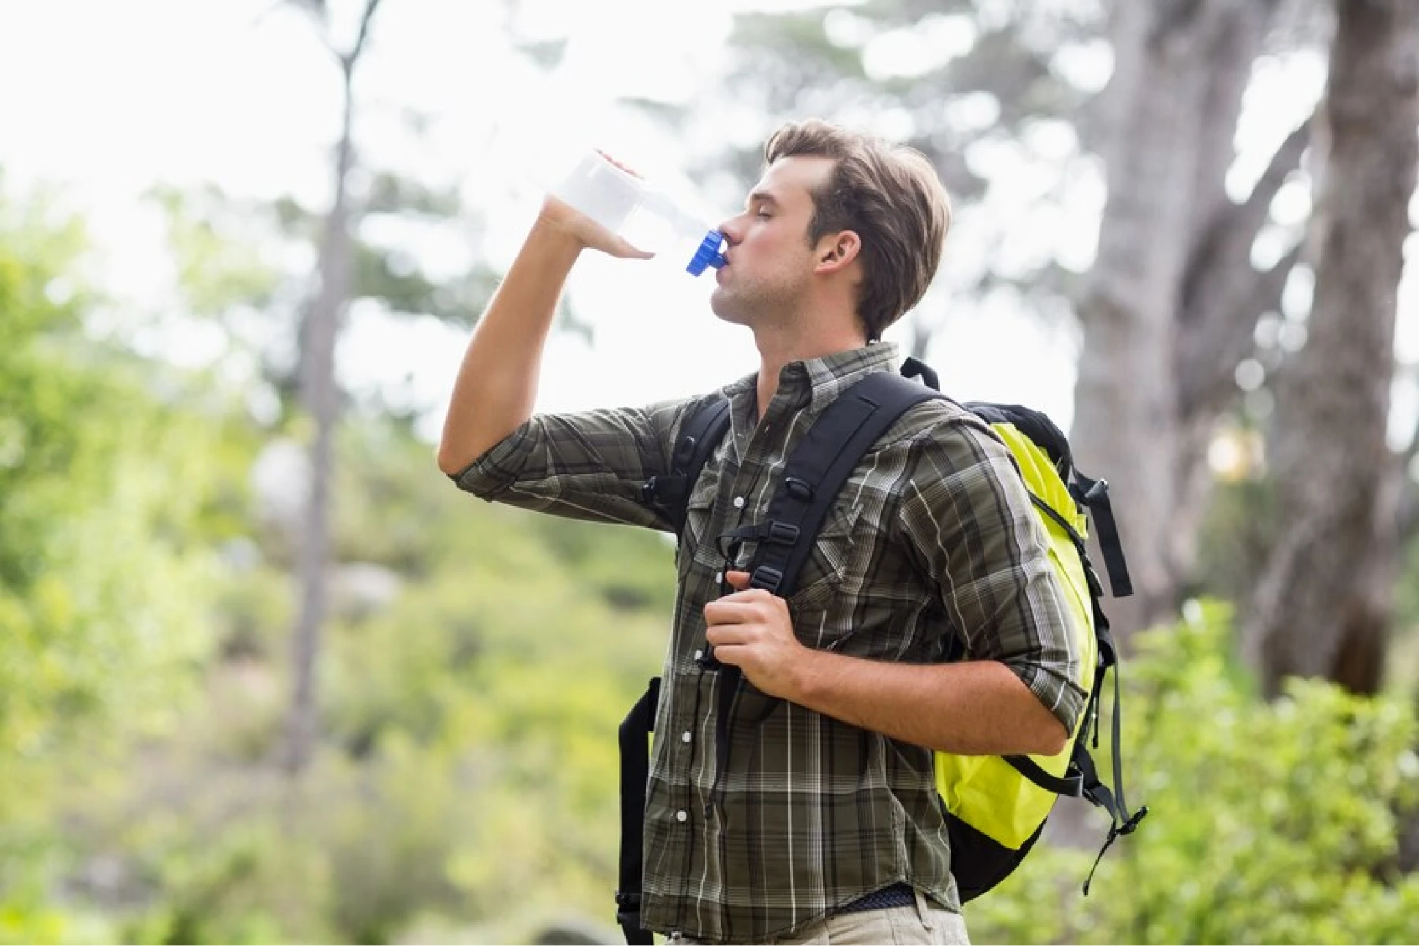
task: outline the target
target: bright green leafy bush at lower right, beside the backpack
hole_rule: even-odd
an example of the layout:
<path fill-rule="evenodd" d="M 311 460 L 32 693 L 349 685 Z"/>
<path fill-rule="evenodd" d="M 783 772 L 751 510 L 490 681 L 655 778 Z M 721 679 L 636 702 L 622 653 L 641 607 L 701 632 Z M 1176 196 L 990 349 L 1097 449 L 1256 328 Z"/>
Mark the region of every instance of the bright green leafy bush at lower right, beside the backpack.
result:
<path fill-rule="evenodd" d="M 1222 606 L 1137 640 L 1124 759 L 1139 830 L 1103 859 L 1043 850 L 968 906 L 982 942 L 1409 943 L 1419 877 L 1395 868 L 1419 810 L 1419 722 L 1398 698 L 1293 681 L 1259 702 L 1233 672 Z M 1100 757 L 1107 757 L 1101 745 Z"/>

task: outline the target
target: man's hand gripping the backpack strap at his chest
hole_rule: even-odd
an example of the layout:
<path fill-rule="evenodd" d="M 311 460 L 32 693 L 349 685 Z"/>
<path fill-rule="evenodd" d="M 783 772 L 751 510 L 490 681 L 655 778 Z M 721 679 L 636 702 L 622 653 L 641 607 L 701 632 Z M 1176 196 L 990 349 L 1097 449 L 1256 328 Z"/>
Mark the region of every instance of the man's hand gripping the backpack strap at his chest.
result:
<path fill-rule="evenodd" d="M 769 696 L 792 699 L 793 675 L 813 651 L 793 635 L 788 601 L 751 589 L 748 572 L 728 572 L 725 577 L 735 591 L 705 604 L 715 658 L 742 669 Z"/>

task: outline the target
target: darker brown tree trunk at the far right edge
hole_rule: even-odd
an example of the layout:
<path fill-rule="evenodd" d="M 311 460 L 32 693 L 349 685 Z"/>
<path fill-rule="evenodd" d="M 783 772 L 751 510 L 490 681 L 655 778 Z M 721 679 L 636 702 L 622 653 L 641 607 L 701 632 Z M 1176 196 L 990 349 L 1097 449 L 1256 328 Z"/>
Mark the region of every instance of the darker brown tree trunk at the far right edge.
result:
<path fill-rule="evenodd" d="M 1337 10 L 1318 129 L 1325 162 L 1311 224 L 1308 342 L 1277 384 L 1270 467 L 1281 533 L 1246 634 L 1273 695 L 1287 675 L 1328 677 L 1351 661 L 1378 667 L 1341 645 L 1347 620 L 1359 616 L 1352 627 L 1371 625 L 1361 631 L 1365 647 L 1382 648 L 1376 599 L 1364 601 L 1364 589 L 1376 567 L 1392 567 L 1371 553 L 1391 528 L 1381 505 L 1392 489 L 1385 428 L 1395 302 L 1419 152 L 1419 4 L 1340 0 Z M 1388 606 L 1378 601 L 1384 623 Z"/>

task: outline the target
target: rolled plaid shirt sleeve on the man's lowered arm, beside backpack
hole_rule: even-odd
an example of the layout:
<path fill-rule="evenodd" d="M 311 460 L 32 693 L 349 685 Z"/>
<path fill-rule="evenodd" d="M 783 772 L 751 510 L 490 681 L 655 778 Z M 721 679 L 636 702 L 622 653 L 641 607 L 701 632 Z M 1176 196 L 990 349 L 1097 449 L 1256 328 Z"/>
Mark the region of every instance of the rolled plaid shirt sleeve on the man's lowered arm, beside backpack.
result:
<path fill-rule="evenodd" d="M 1009 667 L 1073 732 L 1080 647 L 1047 539 L 1006 445 L 952 418 L 917 443 L 901 528 L 929 569 L 971 660 Z"/>

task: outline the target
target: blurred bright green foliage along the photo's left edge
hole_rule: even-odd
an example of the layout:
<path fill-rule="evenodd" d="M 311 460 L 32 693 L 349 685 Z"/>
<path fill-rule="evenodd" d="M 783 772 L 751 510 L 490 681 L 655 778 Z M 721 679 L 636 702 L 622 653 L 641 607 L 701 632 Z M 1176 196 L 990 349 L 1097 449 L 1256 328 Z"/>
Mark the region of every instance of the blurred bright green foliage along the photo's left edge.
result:
<path fill-rule="evenodd" d="M 60 275 L 81 251 L 75 226 L 0 204 L 0 780 L 31 789 L 0 793 L 0 818 L 43 807 L 64 739 L 167 719 L 209 644 L 192 529 L 216 431 L 82 335 Z"/>

